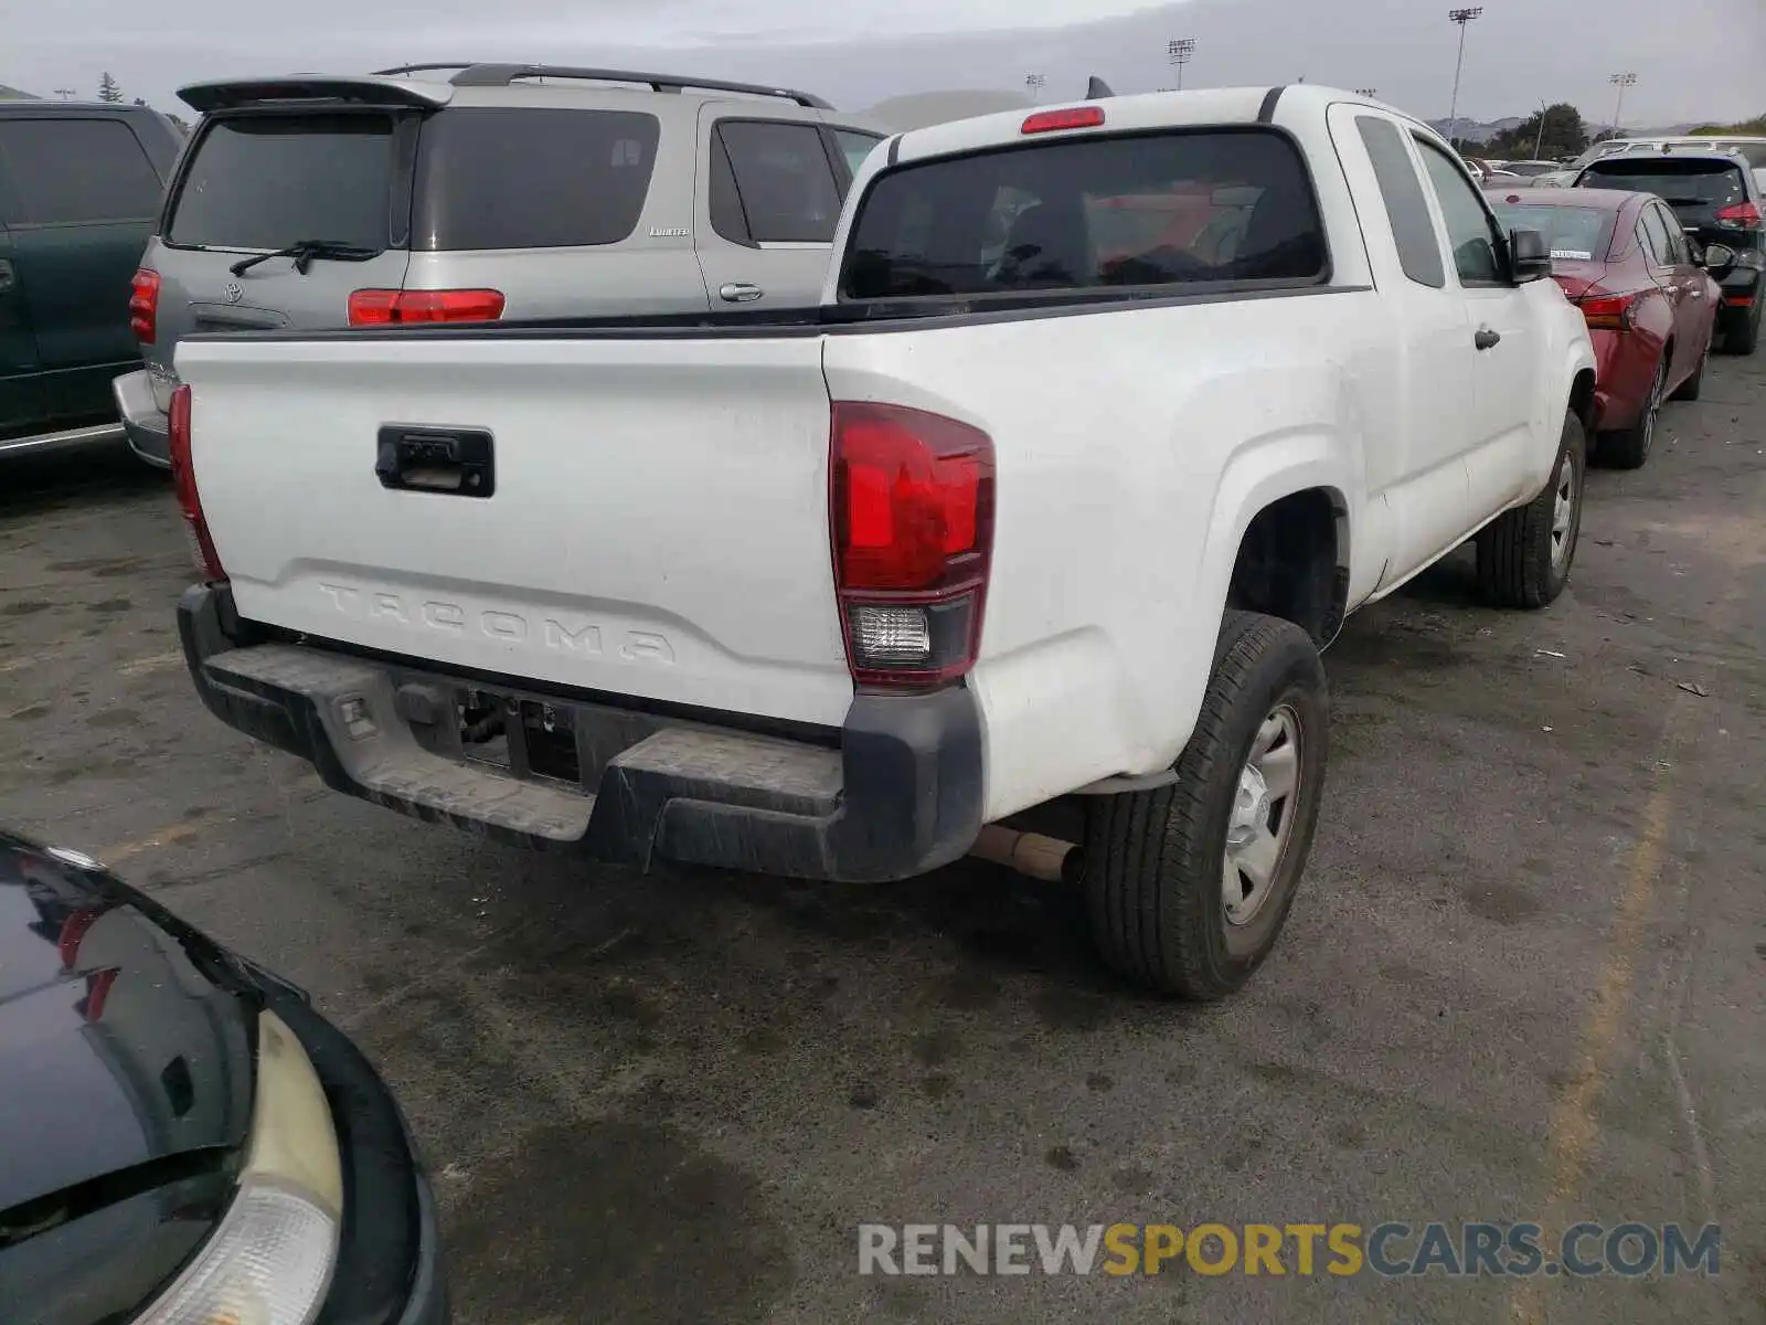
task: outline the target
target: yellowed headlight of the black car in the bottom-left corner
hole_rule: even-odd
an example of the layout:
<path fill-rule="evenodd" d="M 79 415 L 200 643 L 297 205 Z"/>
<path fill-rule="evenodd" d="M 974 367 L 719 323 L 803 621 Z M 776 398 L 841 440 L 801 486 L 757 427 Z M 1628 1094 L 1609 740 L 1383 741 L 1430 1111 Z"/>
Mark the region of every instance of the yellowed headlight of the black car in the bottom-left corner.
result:
<path fill-rule="evenodd" d="M 337 1134 L 318 1072 L 274 1012 L 258 1019 L 258 1094 L 238 1191 L 136 1325 L 309 1325 L 343 1224 Z"/>

